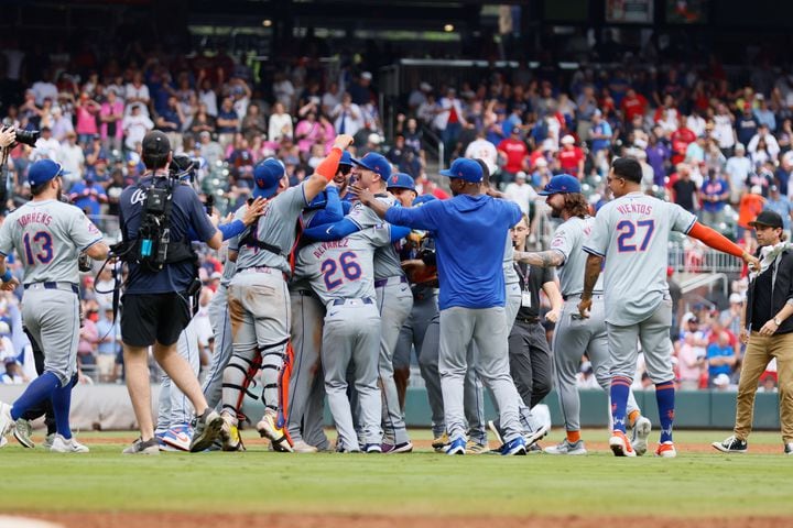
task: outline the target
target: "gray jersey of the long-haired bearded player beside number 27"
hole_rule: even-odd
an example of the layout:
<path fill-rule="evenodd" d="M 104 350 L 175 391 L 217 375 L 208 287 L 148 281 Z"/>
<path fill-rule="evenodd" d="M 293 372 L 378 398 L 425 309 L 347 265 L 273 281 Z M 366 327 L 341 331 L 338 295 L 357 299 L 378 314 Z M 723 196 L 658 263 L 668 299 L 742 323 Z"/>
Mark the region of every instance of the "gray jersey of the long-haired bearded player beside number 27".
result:
<path fill-rule="evenodd" d="M 562 295 L 580 295 L 584 292 L 584 272 L 586 270 L 587 254 L 582 251 L 584 241 L 591 234 L 595 219 L 591 217 L 573 217 L 556 229 L 551 249 L 564 256 L 558 267 L 558 277 Z M 595 283 L 594 292 L 602 292 L 602 275 Z"/>

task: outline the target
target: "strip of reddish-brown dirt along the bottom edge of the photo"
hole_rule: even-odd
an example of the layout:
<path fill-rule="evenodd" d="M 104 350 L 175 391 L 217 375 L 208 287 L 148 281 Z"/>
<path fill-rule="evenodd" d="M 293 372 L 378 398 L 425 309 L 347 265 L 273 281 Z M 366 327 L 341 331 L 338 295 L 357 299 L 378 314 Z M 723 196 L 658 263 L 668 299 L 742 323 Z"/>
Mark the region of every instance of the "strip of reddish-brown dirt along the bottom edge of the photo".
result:
<path fill-rule="evenodd" d="M 267 514 L 52 514 L 28 515 L 61 524 L 65 528 L 601 528 L 622 526 L 624 517 L 415 517 L 365 515 L 267 515 Z M 644 517 L 644 526 L 653 528 L 779 528 L 791 526 L 789 517 Z"/>

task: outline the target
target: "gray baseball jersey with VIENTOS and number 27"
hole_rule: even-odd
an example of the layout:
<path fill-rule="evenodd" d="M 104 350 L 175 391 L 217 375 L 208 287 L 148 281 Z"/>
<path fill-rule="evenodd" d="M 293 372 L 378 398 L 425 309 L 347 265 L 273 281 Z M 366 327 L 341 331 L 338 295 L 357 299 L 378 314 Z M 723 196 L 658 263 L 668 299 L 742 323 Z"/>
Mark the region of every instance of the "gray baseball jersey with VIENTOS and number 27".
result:
<path fill-rule="evenodd" d="M 687 233 L 696 217 L 676 204 L 630 193 L 606 204 L 584 251 L 605 256 L 606 322 L 636 324 L 669 294 L 670 231 Z"/>

